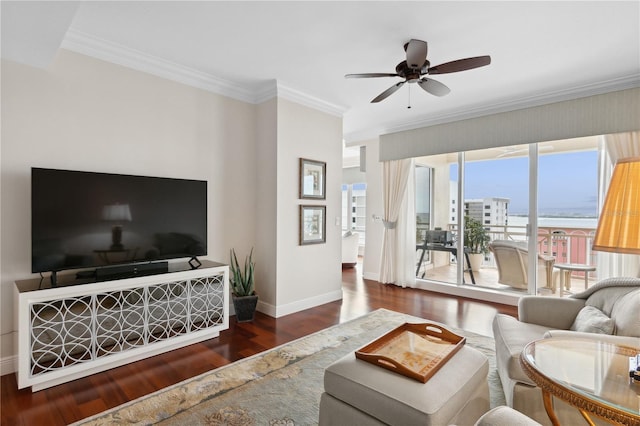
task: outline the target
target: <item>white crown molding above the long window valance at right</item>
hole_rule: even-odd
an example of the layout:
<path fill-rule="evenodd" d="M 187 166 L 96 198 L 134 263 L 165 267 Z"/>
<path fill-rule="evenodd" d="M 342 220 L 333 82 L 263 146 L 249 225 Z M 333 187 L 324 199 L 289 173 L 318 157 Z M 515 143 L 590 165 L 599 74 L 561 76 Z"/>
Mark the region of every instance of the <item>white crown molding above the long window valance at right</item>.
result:
<path fill-rule="evenodd" d="M 348 146 L 355 146 L 359 141 L 376 139 L 380 135 L 419 129 L 421 127 L 435 126 L 437 124 L 451 123 L 454 121 L 468 120 L 501 112 L 515 111 L 524 108 L 568 101 L 572 99 L 586 98 L 588 96 L 602 95 L 620 90 L 640 87 L 640 74 L 632 74 L 594 84 L 575 86 L 569 89 L 548 92 L 541 95 L 528 96 L 515 100 L 508 100 L 491 105 L 468 107 L 464 110 L 449 111 L 442 114 L 431 115 L 428 118 L 411 122 L 396 122 L 387 126 L 378 126 L 360 132 L 345 134 L 344 138 Z"/>

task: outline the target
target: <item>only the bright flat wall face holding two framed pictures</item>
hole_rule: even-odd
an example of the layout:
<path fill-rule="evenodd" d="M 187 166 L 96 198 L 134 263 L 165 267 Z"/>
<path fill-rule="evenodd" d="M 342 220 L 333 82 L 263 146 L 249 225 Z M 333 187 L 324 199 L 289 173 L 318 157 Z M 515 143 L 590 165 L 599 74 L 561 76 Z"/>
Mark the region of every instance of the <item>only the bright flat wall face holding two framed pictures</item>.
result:
<path fill-rule="evenodd" d="M 274 316 L 342 298 L 342 119 L 278 98 Z M 299 159 L 324 161 L 326 200 L 299 199 Z M 299 206 L 326 206 L 326 243 L 299 245 Z"/>

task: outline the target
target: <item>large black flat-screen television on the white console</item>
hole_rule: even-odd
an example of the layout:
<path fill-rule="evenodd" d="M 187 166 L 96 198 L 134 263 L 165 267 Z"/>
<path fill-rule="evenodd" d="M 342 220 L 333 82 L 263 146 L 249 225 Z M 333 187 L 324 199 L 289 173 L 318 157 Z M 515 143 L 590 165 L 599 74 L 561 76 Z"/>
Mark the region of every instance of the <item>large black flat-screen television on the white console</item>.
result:
<path fill-rule="evenodd" d="M 31 170 L 32 272 L 206 254 L 206 181 Z"/>

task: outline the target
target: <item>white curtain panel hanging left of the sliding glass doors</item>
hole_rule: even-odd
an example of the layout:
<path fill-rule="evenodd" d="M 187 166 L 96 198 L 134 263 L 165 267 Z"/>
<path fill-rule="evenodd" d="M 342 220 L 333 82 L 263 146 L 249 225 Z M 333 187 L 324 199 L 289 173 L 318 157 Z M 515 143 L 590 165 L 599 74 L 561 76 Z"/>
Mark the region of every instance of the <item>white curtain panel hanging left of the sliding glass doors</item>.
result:
<path fill-rule="evenodd" d="M 382 164 L 384 235 L 380 282 L 415 286 L 416 223 L 413 159 Z"/>

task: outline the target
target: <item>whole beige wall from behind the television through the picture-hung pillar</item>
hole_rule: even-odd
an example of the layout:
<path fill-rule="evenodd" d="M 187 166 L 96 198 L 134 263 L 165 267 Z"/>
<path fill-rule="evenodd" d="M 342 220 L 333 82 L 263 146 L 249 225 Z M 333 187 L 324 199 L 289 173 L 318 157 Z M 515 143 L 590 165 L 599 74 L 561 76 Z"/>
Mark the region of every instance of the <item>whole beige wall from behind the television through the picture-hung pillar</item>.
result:
<path fill-rule="evenodd" d="M 339 117 L 282 99 L 251 105 L 62 50 L 47 70 L 2 62 L 1 136 L 3 372 L 14 355 L 13 282 L 32 276 L 34 166 L 207 180 L 207 258 L 255 247 L 263 311 L 341 297 Z M 327 162 L 326 244 L 298 245 L 299 157 Z"/>

